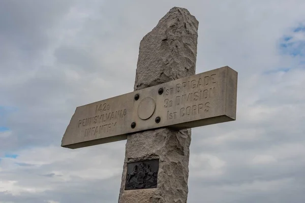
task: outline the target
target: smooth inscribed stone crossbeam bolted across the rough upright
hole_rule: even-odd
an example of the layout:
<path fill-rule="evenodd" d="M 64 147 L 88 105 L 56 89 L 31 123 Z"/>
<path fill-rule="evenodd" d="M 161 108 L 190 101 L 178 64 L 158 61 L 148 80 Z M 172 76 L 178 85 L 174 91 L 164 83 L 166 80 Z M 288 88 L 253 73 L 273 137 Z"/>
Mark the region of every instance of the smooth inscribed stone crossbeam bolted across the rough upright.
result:
<path fill-rule="evenodd" d="M 62 147 L 124 140 L 128 133 L 236 119 L 237 72 L 225 66 L 77 107 Z"/>

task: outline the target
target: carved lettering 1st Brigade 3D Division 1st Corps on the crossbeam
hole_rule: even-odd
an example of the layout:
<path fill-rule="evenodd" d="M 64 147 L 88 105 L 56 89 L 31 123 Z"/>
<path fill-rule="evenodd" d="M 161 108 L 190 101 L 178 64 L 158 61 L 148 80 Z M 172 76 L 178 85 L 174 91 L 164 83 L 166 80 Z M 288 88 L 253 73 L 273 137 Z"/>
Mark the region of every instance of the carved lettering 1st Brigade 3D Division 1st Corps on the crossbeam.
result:
<path fill-rule="evenodd" d="M 216 95 L 217 82 L 217 75 L 212 74 L 164 88 L 163 107 L 168 109 L 167 120 L 207 113 L 212 106 L 211 99 Z M 171 111 L 172 107 L 176 111 Z"/>

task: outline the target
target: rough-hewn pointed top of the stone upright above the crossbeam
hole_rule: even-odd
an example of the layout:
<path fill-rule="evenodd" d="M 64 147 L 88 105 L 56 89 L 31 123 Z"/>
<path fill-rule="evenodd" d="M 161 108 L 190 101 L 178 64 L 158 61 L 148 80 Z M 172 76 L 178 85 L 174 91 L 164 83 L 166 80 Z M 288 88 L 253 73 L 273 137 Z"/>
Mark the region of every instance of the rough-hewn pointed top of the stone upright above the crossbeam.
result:
<path fill-rule="evenodd" d="M 198 21 L 172 8 L 140 43 L 135 90 L 195 74 Z"/>

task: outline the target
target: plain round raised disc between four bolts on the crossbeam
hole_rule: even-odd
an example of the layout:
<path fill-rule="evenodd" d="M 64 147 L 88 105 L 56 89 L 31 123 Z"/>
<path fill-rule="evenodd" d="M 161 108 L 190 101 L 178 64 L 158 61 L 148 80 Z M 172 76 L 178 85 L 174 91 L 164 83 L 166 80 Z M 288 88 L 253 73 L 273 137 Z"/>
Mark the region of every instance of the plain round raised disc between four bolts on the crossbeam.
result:
<path fill-rule="evenodd" d="M 156 101 L 151 97 L 145 97 L 140 101 L 138 107 L 138 116 L 142 120 L 150 118 L 156 109 Z"/>

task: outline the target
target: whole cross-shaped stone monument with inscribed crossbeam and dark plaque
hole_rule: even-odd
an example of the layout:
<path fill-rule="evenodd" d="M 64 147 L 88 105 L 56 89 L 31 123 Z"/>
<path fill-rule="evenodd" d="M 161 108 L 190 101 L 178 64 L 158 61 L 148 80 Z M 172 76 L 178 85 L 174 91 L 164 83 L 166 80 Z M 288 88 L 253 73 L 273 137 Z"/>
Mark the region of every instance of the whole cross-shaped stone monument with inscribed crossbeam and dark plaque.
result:
<path fill-rule="evenodd" d="M 77 107 L 75 149 L 127 139 L 119 203 L 185 203 L 192 127 L 235 120 L 237 72 L 195 75 L 198 21 L 172 8 L 140 43 L 134 92 Z"/>

